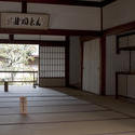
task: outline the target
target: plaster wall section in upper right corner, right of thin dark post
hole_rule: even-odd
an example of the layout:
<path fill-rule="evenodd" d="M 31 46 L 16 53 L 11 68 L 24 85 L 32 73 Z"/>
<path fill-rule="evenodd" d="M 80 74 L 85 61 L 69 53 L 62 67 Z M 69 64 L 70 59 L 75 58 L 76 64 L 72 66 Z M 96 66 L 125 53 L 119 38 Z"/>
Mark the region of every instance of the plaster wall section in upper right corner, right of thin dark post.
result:
<path fill-rule="evenodd" d="M 104 8 L 104 29 L 135 21 L 135 0 L 117 0 Z"/>

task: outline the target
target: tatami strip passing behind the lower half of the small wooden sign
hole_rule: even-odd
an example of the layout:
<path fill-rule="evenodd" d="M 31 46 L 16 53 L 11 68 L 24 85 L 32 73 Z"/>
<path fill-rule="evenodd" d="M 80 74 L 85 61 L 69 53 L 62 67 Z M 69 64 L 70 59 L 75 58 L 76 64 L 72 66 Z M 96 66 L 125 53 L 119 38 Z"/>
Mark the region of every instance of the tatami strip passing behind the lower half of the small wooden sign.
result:
<path fill-rule="evenodd" d="M 45 107 L 28 107 L 28 113 L 62 113 L 62 112 L 91 112 L 106 111 L 107 108 L 97 105 L 72 105 L 72 106 L 45 106 Z M 0 114 L 16 114 L 19 113 L 19 107 L 0 108 Z"/>

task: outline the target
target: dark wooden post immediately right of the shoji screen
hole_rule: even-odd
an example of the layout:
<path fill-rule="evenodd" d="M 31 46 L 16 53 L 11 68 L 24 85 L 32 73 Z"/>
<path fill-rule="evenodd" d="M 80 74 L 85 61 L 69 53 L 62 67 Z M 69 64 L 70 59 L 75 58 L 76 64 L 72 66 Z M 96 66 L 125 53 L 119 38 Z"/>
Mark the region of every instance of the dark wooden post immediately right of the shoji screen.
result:
<path fill-rule="evenodd" d="M 69 86 L 69 37 L 66 38 L 66 48 L 65 48 L 65 73 L 66 73 L 66 86 Z"/>

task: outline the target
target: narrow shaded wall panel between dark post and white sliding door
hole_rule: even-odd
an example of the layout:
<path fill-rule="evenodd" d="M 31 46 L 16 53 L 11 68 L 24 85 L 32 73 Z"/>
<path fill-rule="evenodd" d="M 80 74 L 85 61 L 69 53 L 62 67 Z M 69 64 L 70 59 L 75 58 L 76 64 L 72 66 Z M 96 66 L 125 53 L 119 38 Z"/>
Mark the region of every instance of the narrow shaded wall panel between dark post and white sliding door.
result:
<path fill-rule="evenodd" d="M 81 45 L 79 37 L 70 37 L 69 84 L 78 87 L 81 85 Z"/>

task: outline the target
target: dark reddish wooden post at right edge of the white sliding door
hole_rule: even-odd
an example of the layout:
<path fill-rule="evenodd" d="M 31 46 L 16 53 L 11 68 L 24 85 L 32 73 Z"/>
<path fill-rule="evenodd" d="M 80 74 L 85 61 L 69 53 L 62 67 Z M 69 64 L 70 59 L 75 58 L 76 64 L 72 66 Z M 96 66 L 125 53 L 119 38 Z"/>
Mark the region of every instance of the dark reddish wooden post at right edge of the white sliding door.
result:
<path fill-rule="evenodd" d="M 106 95 L 106 36 L 100 38 L 100 95 Z"/>

